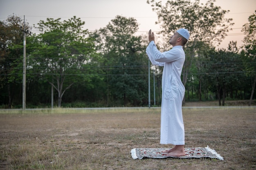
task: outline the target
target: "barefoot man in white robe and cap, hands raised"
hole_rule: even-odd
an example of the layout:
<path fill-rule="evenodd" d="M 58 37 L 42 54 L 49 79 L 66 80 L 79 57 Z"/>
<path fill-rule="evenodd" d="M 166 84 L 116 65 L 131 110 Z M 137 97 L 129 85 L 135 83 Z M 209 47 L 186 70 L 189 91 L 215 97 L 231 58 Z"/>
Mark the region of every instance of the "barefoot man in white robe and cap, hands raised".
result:
<path fill-rule="evenodd" d="M 182 100 L 185 87 L 181 81 L 185 61 L 183 46 L 189 40 L 189 31 L 179 29 L 171 36 L 169 44 L 173 48 L 161 53 L 155 45 L 154 33 L 148 32 L 149 44 L 146 48 L 153 65 L 164 66 L 162 74 L 162 106 L 160 144 L 173 144 L 172 149 L 164 151 L 167 156 L 184 156 L 185 133 L 182 117 Z"/>

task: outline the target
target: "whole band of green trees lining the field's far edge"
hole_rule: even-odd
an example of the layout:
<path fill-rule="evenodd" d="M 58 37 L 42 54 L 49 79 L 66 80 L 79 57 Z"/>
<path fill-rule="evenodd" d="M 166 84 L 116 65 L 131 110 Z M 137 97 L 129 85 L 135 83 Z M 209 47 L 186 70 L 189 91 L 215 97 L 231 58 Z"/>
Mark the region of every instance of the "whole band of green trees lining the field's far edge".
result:
<path fill-rule="evenodd" d="M 180 10 L 177 12 L 180 15 L 185 4 L 188 5 L 186 10 L 196 11 L 194 14 L 185 15 L 192 17 L 191 21 L 193 21 L 186 23 L 185 26 L 191 24 L 191 28 L 194 28 L 191 29 L 191 39 L 184 48 L 186 63 L 182 78 L 187 80 L 184 84 L 186 100 L 209 100 L 209 96 L 210 100 L 219 99 L 220 104 L 222 99 L 223 105 L 225 98 L 249 99 L 251 96 L 253 99 L 256 80 L 255 13 L 249 17 L 249 23 L 243 27 L 246 36 L 242 51 L 238 49 L 236 42 L 230 42 L 227 50 L 217 50 L 213 48 L 215 37 L 213 39 L 208 37 L 211 33 L 212 35 L 216 33 L 215 41 L 218 42 L 223 38 L 222 35 L 225 36 L 228 30 L 225 25 L 232 25 L 230 19 L 225 21 L 222 18 L 227 11 L 215 7 L 212 4 L 214 1 L 207 2 L 207 5 L 199 4 L 199 1 L 177 2 L 182 3 L 167 2 L 174 7 L 169 13 L 167 13 L 169 6 L 162 6 L 166 14 L 162 13 L 160 16 L 162 19 L 168 19 L 169 14 L 171 17 L 176 16 L 175 10 Z M 160 7 L 157 6 L 155 10 Z M 204 15 L 211 19 L 209 26 L 204 23 L 208 20 L 196 15 L 197 12 L 202 14 L 204 10 L 206 10 Z M 183 27 L 186 17 L 178 17 L 179 15 L 174 17 L 177 28 L 175 23 L 170 23 L 173 28 L 166 27 L 163 33 L 175 31 L 178 26 Z M 216 18 L 219 20 L 212 23 L 215 15 L 216 17 L 219 15 Z M 196 17 L 198 20 L 194 22 Z M 164 22 L 160 21 L 158 23 L 164 26 Z M 198 28 L 199 32 L 195 30 L 200 26 L 197 22 L 201 22 L 202 25 L 202 28 Z M 220 22 L 223 27 L 218 26 Z M 23 33 L 20 31 L 20 25 L 23 24 L 22 19 L 15 15 L 0 22 L 1 108 L 22 106 Z M 28 35 L 26 59 L 28 108 L 50 108 L 53 86 L 56 89 L 53 93 L 56 106 L 147 106 L 148 58 L 145 54 L 145 40 L 142 40 L 141 36 L 135 36 L 138 30 L 137 20 L 117 16 L 106 27 L 93 33 L 83 29 L 83 24 L 84 22 L 76 17 L 64 21 L 60 18 L 56 20 L 48 18 L 38 23 L 37 29 L 41 31 L 39 34 Z M 224 29 L 222 34 L 216 32 L 220 30 L 215 26 L 220 30 Z M 25 28 L 30 29 L 28 23 L 25 23 Z M 207 37 L 204 38 L 200 31 L 208 29 L 209 35 L 205 34 Z M 153 91 L 153 71 L 157 84 L 156 103 L 159 104 L 162 68 L 150 67 L 151 91 Z M 153 99 L 153 93 L 151 96 Z"/>

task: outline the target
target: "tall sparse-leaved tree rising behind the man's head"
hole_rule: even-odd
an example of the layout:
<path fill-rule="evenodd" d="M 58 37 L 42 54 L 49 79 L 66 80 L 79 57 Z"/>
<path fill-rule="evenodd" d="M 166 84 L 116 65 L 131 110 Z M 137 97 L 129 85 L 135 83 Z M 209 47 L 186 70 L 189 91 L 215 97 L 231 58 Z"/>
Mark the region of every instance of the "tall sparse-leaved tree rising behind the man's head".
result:
<path fill-rule="evenodd" d="M 229 11 L 215 6 L 214 2 L 215 0 L 208 0 L 206 4 L 200 4 L 200 0 L 168 0 L 163 5 L 161 1 L 147 1 L 158 15 L 156 24 L 161 26 L 161 33 L 164 36 L 180 28 L 186 28 L 190 32 L 189 42 L 185 48 L 186 61 L 182 71 L 184 86 L 193 58 L 201 50 L 201 45 L 213 46 L 216 42 L 220 44 L 227 35 L 229 26 L 233 25 L 232 19 L 224 18 Z"/>

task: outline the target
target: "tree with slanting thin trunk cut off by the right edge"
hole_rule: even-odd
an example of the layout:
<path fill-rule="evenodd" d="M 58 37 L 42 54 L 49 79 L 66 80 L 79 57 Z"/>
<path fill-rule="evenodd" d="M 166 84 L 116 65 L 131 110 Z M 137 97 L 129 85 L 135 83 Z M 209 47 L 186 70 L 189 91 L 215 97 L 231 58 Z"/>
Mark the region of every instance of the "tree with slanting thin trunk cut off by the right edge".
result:
<path fill-rule="evenodd" d="M 252 83 L 252 93 L 249 106 L 252 104 L 254 89 L 256 84 L 256 11 L 248 18 L 249 23 L 243 25 L 242 31 L 245 32 L 244 50 L 242 55 L 245 57 L 245 67 L 249 76 L 254 77 Z"/>

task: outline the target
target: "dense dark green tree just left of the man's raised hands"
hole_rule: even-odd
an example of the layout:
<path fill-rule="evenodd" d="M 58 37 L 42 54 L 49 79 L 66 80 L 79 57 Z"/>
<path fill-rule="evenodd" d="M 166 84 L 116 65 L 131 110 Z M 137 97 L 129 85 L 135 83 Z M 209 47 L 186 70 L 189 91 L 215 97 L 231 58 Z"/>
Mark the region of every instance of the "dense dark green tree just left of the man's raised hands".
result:
<path fill-rule="evenodd" d="M 103 54 L 106 72 L 107 101 L 122 105 L 140 105 L 147 96 L 145 81 L 148 66 L 141 36 L 135 36 L 138 23 L 134 18 L 117 15 L 97 35 L 99 51 Z M 108 102 L 109 103 L 109 102 Z"/>

